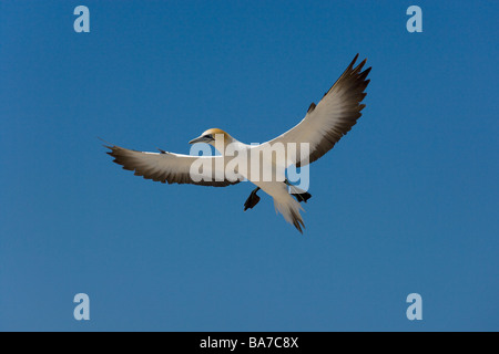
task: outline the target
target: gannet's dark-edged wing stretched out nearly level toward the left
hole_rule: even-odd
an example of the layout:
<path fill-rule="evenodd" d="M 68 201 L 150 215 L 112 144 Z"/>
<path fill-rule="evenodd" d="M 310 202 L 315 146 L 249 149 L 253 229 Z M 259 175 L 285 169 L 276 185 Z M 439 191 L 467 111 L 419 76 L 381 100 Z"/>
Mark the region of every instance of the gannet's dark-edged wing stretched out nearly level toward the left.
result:
<path fill-rule="evenodd" d="M 136 152 L 120 146 L 106 146 L 114 157 L 114 163 L 122 165 L 123 169 L 134 170 L 135 176 L 143 176 L 169 184 L 191 184 L 200 186 L 226 187 L 243 180 L 237 176 L 235 180 L 225 177 L 225 159 L 222 156 L 191 156 L 167 153 Z M 193 164 L 205 168 L 191 168 Z"/>

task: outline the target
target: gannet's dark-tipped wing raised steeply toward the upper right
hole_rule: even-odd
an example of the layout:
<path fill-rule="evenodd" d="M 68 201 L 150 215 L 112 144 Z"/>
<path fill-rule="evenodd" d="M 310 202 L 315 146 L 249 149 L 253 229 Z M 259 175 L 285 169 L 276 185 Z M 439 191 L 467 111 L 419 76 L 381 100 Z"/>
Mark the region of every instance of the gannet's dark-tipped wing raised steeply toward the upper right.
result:
<path fill-rule="evenodd" d="M 370 67 L 361 71 L 367 59 L 354 67 L 358 58 L 355 55 L 352 63 L 339 76 L 333 87 L 324 95 L 320 102 L 310 104 L 305 118 L 283 135 L 265 143 L 297 144 L 296 157 L 288 157 L 288 164 L 297 167 L 313 163 L 335 146 L 335 144 L 352 129 L 361 116 L 360 111 L 366 106 L 360 104 L 366 93 L 369 80 L 366 80 Z M 299 144 L 309 144 L 309 154 L 301 157 Z"/>

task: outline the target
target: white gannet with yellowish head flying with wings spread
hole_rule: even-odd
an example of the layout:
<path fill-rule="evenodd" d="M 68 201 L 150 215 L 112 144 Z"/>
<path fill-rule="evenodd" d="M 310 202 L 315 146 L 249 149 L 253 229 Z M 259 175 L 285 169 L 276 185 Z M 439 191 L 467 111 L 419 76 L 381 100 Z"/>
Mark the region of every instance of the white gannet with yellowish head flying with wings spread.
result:
<path fill-rule="evenodd" d="M 306 190 L 293 186 L 286 179 L 285 171 L 292 165 L 307 166 L 322 157 L 350 131 L 361 116 L 360 111 L 365 104 L 360 104 L 360 102 L 366 96 L 364 91 L 369 84 L 367 75 L 370 67 L 361 71 L 367 59 L 354 67 L 357 58 L 358 54 L 329 91 L 324 94 L 319 103 L 310 104 L 302 122 L 278 137 L 261 145 L 243 144 L 222 129 L 211 128 L 191 140 L 190 144 L 207 143 L 214 146 L 221 155 L 181 155 L 162 149 L 160 153 L 147 153 L 115 145 L 104 146 L 111 149 L 108 154 L 114 157 L 113 162 L 122 165 L 123 169 L 133 170 L 136 176 L 163 184 L 225 187 L 244 179 L 249 180 L 256 185 L 256 189 L 245 201 L 244 210 L 253 208 L 259 201 L 256 192 L 263 189 L 273 197 L 276 211 L 279 211 L 286 221 L 293 223 L 303 233 L 302 227 L 305 225 L 299 214 L 303 208 L 298 201 L 306 202 L 312 196 Z M 273 147 L 279 145 L 294 148 L 286 149 L 283 158 L 277 158 L 277 153 L 265 155 L 266 149 L 272 150 Z M 245 159 L 237 159 L 238 156 L 244 156 Z M 257 159 L 255 156 L 259 158 Z M 258 162 L 254 164 L 256 160 Z M 253 165 L 258 167 L 256 173 L 252 169 Z M 228 166 L 233 167 L 231 176 L 227 175 Z M 262 178 L 262 170 L 271 170 L 267 175 L 271 178 Z"/>

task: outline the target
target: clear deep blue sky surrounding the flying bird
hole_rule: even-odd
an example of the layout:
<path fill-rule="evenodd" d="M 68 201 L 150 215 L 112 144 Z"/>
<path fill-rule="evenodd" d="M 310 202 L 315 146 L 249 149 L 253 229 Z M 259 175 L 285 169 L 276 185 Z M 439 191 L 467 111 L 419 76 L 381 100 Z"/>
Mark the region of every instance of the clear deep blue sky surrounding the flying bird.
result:
<path fill-rule="evenodd" d="M 498 8 L 1 1 L 0 330 L 497 331 Z M 243 212 L 249 184 L 144 180 L 96 138 L 264 142 L 356 53 L 367 107 L 312 165 L 303 236 L 263 194 Z M 90 321 L 73 319 L 80 292 Z"/>

